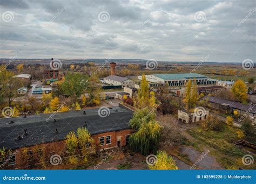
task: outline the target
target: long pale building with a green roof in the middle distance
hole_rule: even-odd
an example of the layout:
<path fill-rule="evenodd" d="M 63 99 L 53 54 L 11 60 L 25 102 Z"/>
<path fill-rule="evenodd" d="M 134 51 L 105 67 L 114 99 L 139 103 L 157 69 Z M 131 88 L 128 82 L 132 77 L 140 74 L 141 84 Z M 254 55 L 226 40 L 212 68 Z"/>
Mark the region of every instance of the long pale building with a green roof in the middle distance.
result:
<path fill-rule="evenodd" d="M 138 76 L 139 80 L 142 80 L 142 76 Z M 184 74 L 152 74 L 146 75 L 146 80 L 151 83 L 165 84 L 168 83 L 169 86 L 183 86 L 188 80 L 196 79 L 198 85 L 206 84 L 216 84 L 217 80 L 210 79 L 206 75 L 196 74 L 196 73 L 184 73 Z"/>

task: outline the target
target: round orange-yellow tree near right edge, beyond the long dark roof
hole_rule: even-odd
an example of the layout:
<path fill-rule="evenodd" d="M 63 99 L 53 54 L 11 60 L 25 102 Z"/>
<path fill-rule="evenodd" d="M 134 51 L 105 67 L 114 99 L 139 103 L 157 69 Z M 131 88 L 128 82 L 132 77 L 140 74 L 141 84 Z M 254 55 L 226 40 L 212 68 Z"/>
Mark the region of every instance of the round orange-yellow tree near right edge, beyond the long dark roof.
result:
<path fill-rule="evenodd" d="M 244 82 L 241 80 L 236 81 L 234 86 L 231 88 L 231 91 L 235 97 L 235 100 L 242 103 L 247 102 L 247 87 Z"/>

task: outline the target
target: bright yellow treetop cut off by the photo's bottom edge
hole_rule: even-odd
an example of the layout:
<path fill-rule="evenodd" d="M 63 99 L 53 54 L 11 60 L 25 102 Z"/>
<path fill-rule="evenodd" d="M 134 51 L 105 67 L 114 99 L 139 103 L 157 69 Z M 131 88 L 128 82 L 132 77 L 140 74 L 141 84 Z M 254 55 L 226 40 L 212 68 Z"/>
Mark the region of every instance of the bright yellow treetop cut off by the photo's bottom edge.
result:
<path fill-rule="evenodd" d="M 175 160 L 172 158 L 171 155 L 167 155 L 165 151 L 157 152 L 157 160 L 156 163 L 153 165 L 149 165 L 151 170 L 177 170 L 178 167 L 176 166 Z"/>

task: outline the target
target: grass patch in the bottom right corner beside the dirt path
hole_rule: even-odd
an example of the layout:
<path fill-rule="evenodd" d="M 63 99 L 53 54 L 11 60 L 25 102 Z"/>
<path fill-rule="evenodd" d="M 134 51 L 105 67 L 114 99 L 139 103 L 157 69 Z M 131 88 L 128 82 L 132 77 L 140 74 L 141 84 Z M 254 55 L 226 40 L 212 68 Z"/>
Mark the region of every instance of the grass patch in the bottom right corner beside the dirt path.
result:
<path fill-rule="evenodd" d="M 239 167 L 255 169 L 254 165 L 242 164 L 242 157 L 248 153 L 233 144 L 238 140 L 236 131 L 236 128 L 227 125 L 224 125 L 221 131 L 205 131 L 200 127 L 187 130 L 197 140 L 198 145 L 209 147 L 211 155 L 226 169 L 238 169 Z"/>

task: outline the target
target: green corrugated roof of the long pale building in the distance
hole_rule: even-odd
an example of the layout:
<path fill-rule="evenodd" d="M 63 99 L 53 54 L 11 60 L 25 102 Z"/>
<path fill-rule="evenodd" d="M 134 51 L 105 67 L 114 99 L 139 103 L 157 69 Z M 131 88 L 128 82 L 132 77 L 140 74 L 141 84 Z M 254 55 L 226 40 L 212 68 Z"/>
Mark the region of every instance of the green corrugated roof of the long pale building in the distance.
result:
<path fill-rule="evenodd" d="M 153 74 L 163 80 L 184 80 L 194 78 L 207 78 L 205 75 L 196 73 L 185 73 L 185 74 Z"/>

